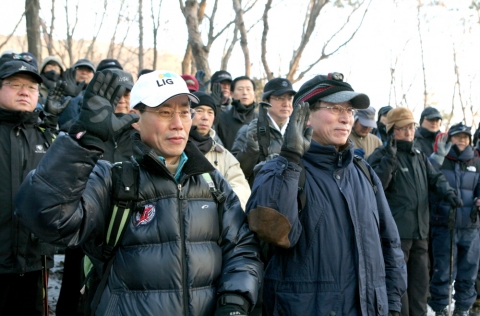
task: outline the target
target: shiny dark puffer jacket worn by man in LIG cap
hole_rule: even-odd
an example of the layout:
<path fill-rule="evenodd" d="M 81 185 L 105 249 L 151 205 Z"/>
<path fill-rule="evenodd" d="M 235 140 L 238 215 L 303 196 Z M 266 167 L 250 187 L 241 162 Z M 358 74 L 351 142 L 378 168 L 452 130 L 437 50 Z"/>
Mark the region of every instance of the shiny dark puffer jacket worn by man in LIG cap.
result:
<path fill-rule="evenodd" d="M 133 142 L 140 165 L 136 212 L 97 315 L 213 315 L 218 296 L 227 292 L 242 295 L 253 308 L 263 266 L 235 193 L 193 144 L 187 144 L 177 183 L 139 137 Z M 99 156 L 69 136 L 57 138 L 16 200 L 25 225 L 51 242 L 83 244 L 97 269 L 112 189 L 111 164 L 97 163 Z M 227 195 L 221 223 L 204 172 Z"/>

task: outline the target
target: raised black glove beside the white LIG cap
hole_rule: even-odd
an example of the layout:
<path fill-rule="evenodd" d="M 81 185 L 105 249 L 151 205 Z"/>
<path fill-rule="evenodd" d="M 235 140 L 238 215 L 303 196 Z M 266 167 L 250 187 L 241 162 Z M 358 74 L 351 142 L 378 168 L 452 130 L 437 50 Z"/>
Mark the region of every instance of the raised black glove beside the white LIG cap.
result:
<path fill-rule="evenodd" d="M 80 114 L 69 134 L 83 146 L 103 151 L 103 142 L 139 119 L 136 114 L 114 115 L 115 106 L 124 93 L 125 87 L 118 85 L 117 74 L 97 72 L 85 91 Z"/>

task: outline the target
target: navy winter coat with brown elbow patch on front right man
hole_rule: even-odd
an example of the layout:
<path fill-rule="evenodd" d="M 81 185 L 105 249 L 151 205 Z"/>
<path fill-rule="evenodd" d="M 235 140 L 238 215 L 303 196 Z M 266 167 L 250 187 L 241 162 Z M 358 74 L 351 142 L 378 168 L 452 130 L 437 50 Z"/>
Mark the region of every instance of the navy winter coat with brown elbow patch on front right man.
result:
<path fill-rule="evenodd" d="M 379 179 L 369 168 L 379 187 L 375 194 L 353 164 L 353 145 L 337 152 L 312 141 L 302 162 L 306 206 L 300 214 L 296 192 L 301 168 L 282 156 L 258 173 L 247 205 L 249 220 L 268 208 L 290 227 L 285 248 L 277 248 L 266 268 L 267 315 L 400 311 L 406 266 Z"/>

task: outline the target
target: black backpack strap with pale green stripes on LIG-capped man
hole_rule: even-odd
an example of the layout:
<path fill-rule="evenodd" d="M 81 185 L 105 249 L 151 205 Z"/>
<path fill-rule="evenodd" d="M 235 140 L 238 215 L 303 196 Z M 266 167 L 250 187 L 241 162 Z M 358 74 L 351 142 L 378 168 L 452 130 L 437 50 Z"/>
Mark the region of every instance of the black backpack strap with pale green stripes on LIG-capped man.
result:
<path fill-rule="evenodd" d="M 125 234 L 127 222 L 132 214 L 133 201 L 138 195 L 137 187 L 138 165 L 131 161 L 115 163 L 112 168 L 113 210 L 110 214 L 107 235 L 102 247 L 102 255 L 105 259 L 102 279 L 95 291 L 92 301 L 92 313 L 94 316 L 100 298 L 107 286 L 108 277 L 115 259 L 119 243 Z"/>

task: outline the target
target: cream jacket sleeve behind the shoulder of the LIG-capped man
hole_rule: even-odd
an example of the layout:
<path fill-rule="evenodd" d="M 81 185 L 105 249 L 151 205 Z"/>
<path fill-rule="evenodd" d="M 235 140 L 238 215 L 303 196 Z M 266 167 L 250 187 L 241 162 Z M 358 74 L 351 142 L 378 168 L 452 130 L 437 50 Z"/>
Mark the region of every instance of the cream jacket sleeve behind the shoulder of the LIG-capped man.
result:
<path fill-rule="evenodd" d="M 242 209 L 245 211 L 248 198 L 250 197 L 250 185 L 245 179 L 240 163 L 237 159 L 225 149 L 225 179 L 228 181 L 233 191 L 237 194 Z"/>

